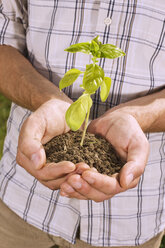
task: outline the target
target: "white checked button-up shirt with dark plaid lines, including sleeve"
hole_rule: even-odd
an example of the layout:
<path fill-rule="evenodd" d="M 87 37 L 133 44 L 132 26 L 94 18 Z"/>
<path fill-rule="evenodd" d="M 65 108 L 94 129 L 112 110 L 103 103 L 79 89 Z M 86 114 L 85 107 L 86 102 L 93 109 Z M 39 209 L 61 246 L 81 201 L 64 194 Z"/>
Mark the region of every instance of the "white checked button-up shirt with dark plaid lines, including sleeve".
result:
<path fill-rule="evenodd" d="M 164 0 L 0 0 L 0 44 L 14 46 L 42 75 L 58 85 L 73 67 L 84 70 L 88 55 L 64 49 L 100 35 L 126 56 L 101 59 L 112 78 L 105 103 L 93 97 L 91 118 L 121 102 L 145 96 L 165 85 Z M 73 100 L 77 80 L 66 89 Z M 30 111 L 12 104 L 4 155 L 0 162 L 0 197 L 21 218 L 39 229 L 74 243 L 135 246 L 165 228 L 165 134 L 146 134 L 150 156 L 138 186 L 101 203 L 61 197 L 16 164 L 18 135 Z"/>

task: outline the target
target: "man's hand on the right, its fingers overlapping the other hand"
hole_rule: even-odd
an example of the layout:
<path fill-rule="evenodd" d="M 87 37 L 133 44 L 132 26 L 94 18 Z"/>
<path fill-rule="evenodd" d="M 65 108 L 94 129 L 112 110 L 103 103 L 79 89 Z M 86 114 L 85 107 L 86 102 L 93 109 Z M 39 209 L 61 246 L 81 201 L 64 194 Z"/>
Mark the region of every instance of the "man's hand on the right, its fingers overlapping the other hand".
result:
<path fill-rule="evenodd" d="M 135 187 L 144 172 L 149 154 L 148 141 L 136 119 L 127 113 L 105 113 L 92 121 L 88 131 L 107 139 L 126 161 L 119 174 L 109 177 L 92 169 L 68 176 L 61 195 L 100 202 Z"/>

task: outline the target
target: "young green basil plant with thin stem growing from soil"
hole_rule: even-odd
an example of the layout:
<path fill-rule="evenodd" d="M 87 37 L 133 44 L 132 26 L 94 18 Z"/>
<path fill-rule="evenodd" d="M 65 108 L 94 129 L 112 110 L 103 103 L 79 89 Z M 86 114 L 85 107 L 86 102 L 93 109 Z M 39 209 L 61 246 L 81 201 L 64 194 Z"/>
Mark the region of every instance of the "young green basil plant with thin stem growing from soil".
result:
<path fill-rule="evenodd" d="M 105 102 L 111 87 L 111 78 L 104 76 L 104 70 L 97 64 L 98 59 L 114 59 L 124 56 L 125 53 L 120 48 L 112 44 L 102 44 L 99 41 L 99 36 L 95 37 L 90 42 L 71 45 L 65 49 L 65 51 L 71 53 L 82 52 L 92 55 L 93 63 L 87 64 L 84 72 L 76 68 L 72 68 L 65 73 L 59 83 L 59 88 L 62 90 L 63 88 L 72 85 L 80 74 L 84 74 L 83 82 L 80 85 L 84 91 L 82 95 L 70 105 L 65 116 L 68 126 L 73 131 L 77 131 L 85 121 L 80 143 L 82 146 L 87 130 L 90 109 L 92 106 L 91 95 L 95 94 L 100 87 L 100 98 L 102 102 Z"/>

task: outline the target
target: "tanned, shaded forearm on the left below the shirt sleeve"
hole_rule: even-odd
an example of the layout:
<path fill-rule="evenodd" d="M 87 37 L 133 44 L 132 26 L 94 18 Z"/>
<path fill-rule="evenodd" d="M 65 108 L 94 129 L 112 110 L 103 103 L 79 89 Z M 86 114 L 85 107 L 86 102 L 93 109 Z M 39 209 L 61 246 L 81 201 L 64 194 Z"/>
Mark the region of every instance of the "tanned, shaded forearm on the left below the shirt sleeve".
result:
<path fill-rule="evenodd" d="M 0 68 L 0 92 L 22 107 L 34 111 L 53 98 L 71 102 L 13 47 L 0 46 Z"/>

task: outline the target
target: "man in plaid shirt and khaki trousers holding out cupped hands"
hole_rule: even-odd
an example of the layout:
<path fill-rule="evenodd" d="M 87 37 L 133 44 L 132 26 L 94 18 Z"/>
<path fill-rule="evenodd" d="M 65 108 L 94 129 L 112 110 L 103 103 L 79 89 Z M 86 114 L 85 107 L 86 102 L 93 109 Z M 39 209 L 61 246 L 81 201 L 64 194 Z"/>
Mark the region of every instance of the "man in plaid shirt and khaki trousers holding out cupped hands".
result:
<path fill-rule="evenodd" d="M 0 6 L 0 91 L 13 101 L 0 170 L 1 247 L 159 247 L 164 1 L 0 0 Z M 96 35 L 126 53 L 100 61 L 112 78 L 111 94 L 105 104 L 94 96 L 88 128 L 126 159 L 113 177 L 84 163 L 46 164 L 43 149 L 69 131 L 65 112 L 80 94 L 80 82 L 60 92 L 59 79 L 89 60 L 64 49 Z"/>

